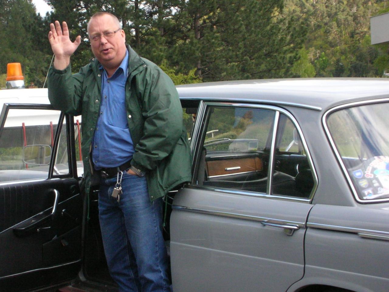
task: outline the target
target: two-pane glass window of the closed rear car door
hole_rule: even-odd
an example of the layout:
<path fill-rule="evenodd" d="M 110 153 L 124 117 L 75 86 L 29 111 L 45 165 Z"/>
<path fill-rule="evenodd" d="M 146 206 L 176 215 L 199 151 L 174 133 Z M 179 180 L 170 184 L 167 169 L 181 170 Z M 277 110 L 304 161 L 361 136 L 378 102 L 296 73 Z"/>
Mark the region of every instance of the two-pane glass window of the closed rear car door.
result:
<path fill-rule="evenodd" d="M 308 198 L 314 188 L 301 137 L 280 114 L 270 188 L 270 148 L 276 111 L 245 107 L 209 107 L 203 129 L 198 185 Z M 282 150 L 282 151 L 281 151 Z"/>

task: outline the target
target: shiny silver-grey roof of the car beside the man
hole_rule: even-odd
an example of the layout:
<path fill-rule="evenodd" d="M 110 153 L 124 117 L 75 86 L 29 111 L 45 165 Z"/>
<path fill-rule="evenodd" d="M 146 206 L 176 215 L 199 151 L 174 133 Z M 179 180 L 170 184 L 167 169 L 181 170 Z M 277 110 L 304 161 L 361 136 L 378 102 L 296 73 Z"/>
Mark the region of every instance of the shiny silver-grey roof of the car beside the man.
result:
<path fill-rule="evenodd" d="M 389 96 L 386 78 L 294 78 L 195 83 L 177 86 L 181 99 L 265 102 L 327 109 Z"/>

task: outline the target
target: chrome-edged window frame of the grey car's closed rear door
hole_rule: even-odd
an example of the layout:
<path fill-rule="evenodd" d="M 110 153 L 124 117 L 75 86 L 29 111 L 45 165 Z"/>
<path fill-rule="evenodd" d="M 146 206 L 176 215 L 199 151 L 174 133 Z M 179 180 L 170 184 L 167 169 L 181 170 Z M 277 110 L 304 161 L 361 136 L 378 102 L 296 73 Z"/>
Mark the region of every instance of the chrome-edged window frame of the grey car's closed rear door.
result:
<path fill-rule="evenodd" d="M 269 155 L 269 166 L 268 166 L 268 182 L 266 186 L 266 193 L 257 193 L 257 192 L 251 192 L 251 191 L 245 191 L 245 190 L 235 190 L 235 189 L 226 189 L 226 188 L 217 188 L 214 186 L 204 186 L 204 185 L 196 185 L 196 178 L 199 171 L 199 162 L 201 159 L 201 149 L 202 144 L 205 139 L 206 134 L 206 127 L 209 121 L 209 116 L 211 111 L 209 111 L 210 107 L 242 107 L 242 108 L 248 108 L 248 109 L 266 109 L 266 110 L 272 110 L 275 111 L 274 121 L 273 121 L 273 128 L 270 128 L 270 132 L 272 133 L 269 135 L 271 137 L 270 141 L 270 155 Z M 303 146 L 303 149 L 305 150 L 305 154 L 308 160 L 308 164 L 310 166 L 310 169 L 312 171 L 312 176 L 314 179 L 314 186 L 312 188 L 312 191 L 310 192 L 310 195 L 308 198 L 299 198 L 299 197 L 289 197 L 284 195 L 273 195 L 271 193 L 272 188 L 272 179 L 273 179 L 273 170 L 274 170 L 274 160 L 275 160 L 275 154 L 276 154 L 276 137 L 278 132 L 278 123 L 280 120 L 281 113 L 287 116 L 289 118 L 294 127 L 296 127 L 296 130 L 298 134 L 300 135 L 301 144 Z M 270 134 L 270 133 L 269 133 Z M 269 140 L 269 139 L 268 139 Z M 268 144 L 270 141 L 266 142 Z M 267 147 L 267 146 L 266 146 Z M 310 155 L 310 151 L 307 146 L 307 142 L 305 140 L 305 137 L 301 131 L 300 125 L 298 125 L 297 120 L 293 117 L 291 113 L 286 111 L 285 109 L 282 109 L 277 106 L 270 106 L 270 105 L 263 105 L 263 104 L 246 104 L 246 103 L 240 103 L 240 102 L 200 102 L 199 108 L 198 108 L 198 115 L 196 116 L 196 123 L 193 131 L 193 139 L 191 141 L 191 149 L 193 153 L 193 180 L 192 184 L 189 185 L 190 188 L 200 188 L 205 190 L 213 190 L 216 192 L 224 192 L 224 193 L 233 193 L 233 194 L 239 194 L 239 195 L 247 195 L 247 196 L 255 196 L 255 197 L 266 197 L 271 199 L 282 199 L 287 201 L 300 201 L 300 202 L 307 202 L 310 203 L 314 197 L 314 193 L 317 189 L 317 172 L 314 167 L 314 163 L 312 161 L 312 157 Z"/>

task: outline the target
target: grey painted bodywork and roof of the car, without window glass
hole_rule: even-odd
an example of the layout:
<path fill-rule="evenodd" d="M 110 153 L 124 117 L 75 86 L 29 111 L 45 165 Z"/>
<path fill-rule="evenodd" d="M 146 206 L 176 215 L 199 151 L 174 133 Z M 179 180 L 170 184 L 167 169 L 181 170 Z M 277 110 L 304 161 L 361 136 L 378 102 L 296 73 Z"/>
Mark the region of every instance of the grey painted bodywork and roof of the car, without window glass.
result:
<path fill-rule="evenodd" d="M 317 186 L 312 199 L 298 202 L 268 193 L 218 188 L 217 178 L 216 184 L 196 186 L 195 178 L 173 201 L 170 252 L 175 290 L 292 292 L 326 285 L 358 292 L 387 291 L 388 203 L 356 201 L 322 118 L 336 106 L 385 99 L 388 85 L 387 79 L 318 78 L 177 86 L 182 102 L 200 102 L 191 137 L 195 174 L 202 161 L 200 142 L 207 106 L 218 102 L 277 106 L 301 129 Z M 212 155 L 207 152 L 206 161 Z M 289 175 L 304 161 L 301 155 L 282 152 L 274 157 L 276 170 L 294 159 L 287 168 Z M 292 236 L 278 234 L 261 226 L 268 218 L 277 223 L 297 222 L 300 229 Z"/>

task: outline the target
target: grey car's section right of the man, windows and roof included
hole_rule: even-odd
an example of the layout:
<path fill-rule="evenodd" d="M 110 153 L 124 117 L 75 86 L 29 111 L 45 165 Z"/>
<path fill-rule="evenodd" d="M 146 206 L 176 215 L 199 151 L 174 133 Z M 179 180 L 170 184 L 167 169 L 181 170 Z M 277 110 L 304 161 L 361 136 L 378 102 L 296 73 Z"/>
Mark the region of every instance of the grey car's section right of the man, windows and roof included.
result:
<path fill-rule="evenodd" d="M 177 90 L 196 121 L 170 218 L 175 292 L 389 291 L 389 80 Z"/>

